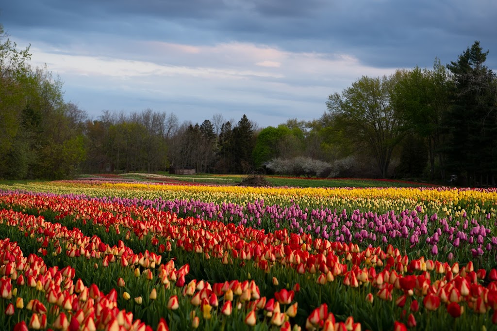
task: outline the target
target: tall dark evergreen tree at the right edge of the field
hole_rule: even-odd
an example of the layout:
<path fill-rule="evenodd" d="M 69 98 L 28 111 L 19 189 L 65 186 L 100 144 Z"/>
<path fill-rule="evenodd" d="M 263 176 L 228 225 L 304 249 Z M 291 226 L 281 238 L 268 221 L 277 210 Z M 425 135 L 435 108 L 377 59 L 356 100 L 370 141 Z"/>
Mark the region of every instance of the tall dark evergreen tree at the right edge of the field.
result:
<path fill-rule="evenodd" d="M 476 41 L 447 68 L 452 72 L 452 105 L 445 119 L 447 168 L 463 185 L 495 185 L 497 173 L 496 75 L 485 66 L 489 51 Z"/>

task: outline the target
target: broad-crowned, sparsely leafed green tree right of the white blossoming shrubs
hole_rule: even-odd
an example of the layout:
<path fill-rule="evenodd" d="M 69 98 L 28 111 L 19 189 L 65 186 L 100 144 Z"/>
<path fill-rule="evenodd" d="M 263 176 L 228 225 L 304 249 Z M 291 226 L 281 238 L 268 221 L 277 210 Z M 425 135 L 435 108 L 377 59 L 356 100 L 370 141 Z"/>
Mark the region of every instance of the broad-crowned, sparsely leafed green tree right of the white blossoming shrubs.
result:
<path fill-rule="evenodd" d="M 327 107 L 333 120 L 350 140 L 375 158 L 379 173 L 387 177 L 392 155 L 406 135 L 405 122 L 391 104 L 394 84 L 400 72 L 387 77 L 363 76 L 330 95 Z"/>

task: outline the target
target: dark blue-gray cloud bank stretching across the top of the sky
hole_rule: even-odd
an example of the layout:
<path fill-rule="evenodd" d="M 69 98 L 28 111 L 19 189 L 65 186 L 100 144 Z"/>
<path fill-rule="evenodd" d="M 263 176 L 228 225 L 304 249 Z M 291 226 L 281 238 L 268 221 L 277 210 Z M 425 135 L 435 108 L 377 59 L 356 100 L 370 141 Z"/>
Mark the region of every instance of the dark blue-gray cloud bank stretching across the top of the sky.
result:
<path fill-rule="evenodd" d="M 426 65 L 435 56 L 457 58 L 475 40 L 497 44 L 497 2 L 490 0 L 24 0 L 0 9 L 16 34 L 30 29 L 55 43 L 51 30 L 63 39 L 102 32 L 191 44 L 237 40 L 354 52 L 374 66 Z"/>

